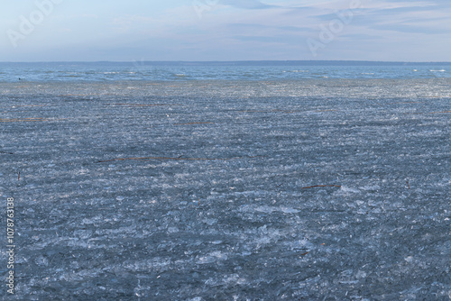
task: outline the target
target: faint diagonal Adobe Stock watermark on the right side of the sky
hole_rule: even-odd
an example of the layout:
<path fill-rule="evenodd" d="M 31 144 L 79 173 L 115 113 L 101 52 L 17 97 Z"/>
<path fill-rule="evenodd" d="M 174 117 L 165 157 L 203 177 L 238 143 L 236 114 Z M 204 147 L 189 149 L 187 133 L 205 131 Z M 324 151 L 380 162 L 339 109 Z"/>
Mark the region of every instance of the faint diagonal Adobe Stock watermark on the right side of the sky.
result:
<path fill-rule="evenodd" d="M 318 50 L 325 49 L 327 44 L 336 39 L 336 36 L 345 30 L 345 25 L 353 22 L 356 10 L 362 7 L 361 0 L 352 0 L 349 9 L 336 11 L 336 19 L 331 20 L 327 25 L 321 24 L 321 31 L 318 34 L 318 40 L 308 38 L 307 45 L 314 58 L 318 56 Z"/>

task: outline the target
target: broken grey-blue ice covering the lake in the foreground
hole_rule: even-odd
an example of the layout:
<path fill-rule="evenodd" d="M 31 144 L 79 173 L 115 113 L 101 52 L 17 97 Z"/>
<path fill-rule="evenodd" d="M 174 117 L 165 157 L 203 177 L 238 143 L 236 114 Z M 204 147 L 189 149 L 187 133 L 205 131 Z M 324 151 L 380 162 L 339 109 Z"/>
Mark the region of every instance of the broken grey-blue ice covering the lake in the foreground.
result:
<path fill-rule="evenodd" d="M 449 300 L 450 105 L 449 78 L 0 84 L 11 299 Z"/>

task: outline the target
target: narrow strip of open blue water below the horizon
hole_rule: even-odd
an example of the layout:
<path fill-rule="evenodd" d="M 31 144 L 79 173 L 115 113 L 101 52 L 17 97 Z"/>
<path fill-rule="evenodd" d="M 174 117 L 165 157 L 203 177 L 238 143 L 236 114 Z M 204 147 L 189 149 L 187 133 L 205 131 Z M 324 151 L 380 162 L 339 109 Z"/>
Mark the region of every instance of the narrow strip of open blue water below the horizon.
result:
<path fill-rule="evenodd" d="M 451 78 L 451 63 L 356 61 L 0 63 L 0 82 Z"/>

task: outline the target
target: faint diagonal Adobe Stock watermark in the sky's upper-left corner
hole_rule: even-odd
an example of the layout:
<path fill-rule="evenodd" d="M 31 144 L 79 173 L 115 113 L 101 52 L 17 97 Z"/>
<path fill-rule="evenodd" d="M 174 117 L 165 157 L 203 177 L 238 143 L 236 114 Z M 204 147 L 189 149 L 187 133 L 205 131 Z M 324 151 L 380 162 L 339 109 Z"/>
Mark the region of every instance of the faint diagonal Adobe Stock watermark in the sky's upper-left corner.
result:
<path fill-rule="evenodd" d="M 36 26 L 40 25 L 47 16 L 53 13 L 55 5 L 60 5 L 64 0 L 36 0 L 34 5 L 36 9 L 28 15 L 28 18 L 24 15 L 19 16 L 19 28 L 18 31 L 9 29 L 6 34 L 9 41 L 14 48 L 17 48 L 17 42 L 24 40 L 27 36 L 32 34 L 36 29 Z"/>

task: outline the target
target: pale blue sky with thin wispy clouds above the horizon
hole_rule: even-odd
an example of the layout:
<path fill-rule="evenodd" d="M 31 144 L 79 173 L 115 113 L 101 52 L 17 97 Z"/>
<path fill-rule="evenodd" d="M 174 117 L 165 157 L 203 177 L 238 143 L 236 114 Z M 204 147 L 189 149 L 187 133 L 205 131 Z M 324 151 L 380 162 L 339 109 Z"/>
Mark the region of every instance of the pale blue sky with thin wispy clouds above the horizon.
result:
<path fill-rule="evenodd" d="M 0 61 L 451 61 L 449 0 L 0 5 Z"/>

